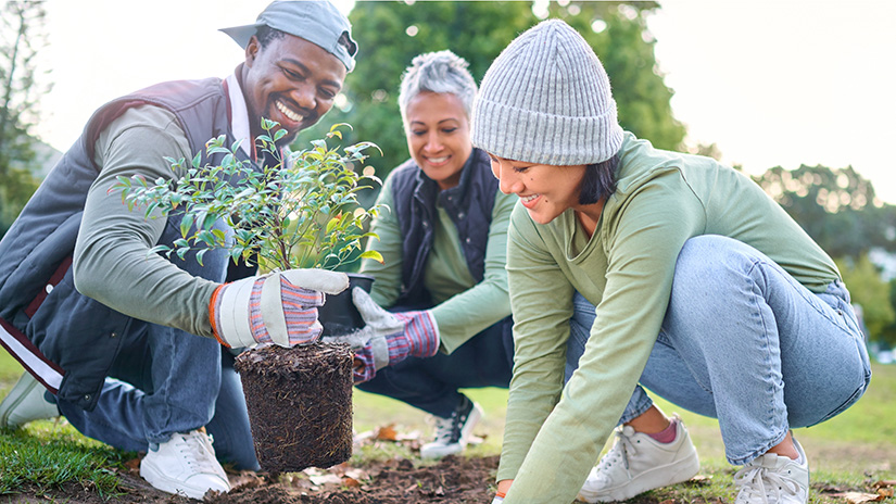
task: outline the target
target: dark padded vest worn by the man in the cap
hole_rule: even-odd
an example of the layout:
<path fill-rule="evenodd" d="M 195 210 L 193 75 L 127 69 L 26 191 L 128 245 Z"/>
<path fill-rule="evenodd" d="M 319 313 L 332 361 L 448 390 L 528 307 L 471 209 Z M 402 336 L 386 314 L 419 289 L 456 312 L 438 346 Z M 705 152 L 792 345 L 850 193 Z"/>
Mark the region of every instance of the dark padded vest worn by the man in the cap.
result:
<path fill-rule="evenodd" d="M 3 345 L 52 392 L 87 410 L 96 406 L 105 374 L 119 351 L 119 336 L 146 323 L 80 294 L 70 266 L 87 192 L 99 174 L 93 144 L 113 119 L 142 104 L 172 111 L 192 152 L 204 152 L 205 142 L 219 135 L 227 136 L 226 144 L 234 142 L 219 78 L 163 83 L 114 100 L 93 114 L 0 241 Z M 172 219 L 179 217 L 172 217 L 167 228 L 177 224 Z M 169 243 L 175 234 L 166 231 L 160 243 Z M 186 264 L 173 262 L 181 268 Z M 226 265 L 226 261 L 212 262 L 218 270 L 200 276 L 222 281 L 226 270 L 220 270 L 220 264 Z M 47 373 L 41 374 L 41 369 Z M 55 381 L 48 382 L 47 376 Z"/>

